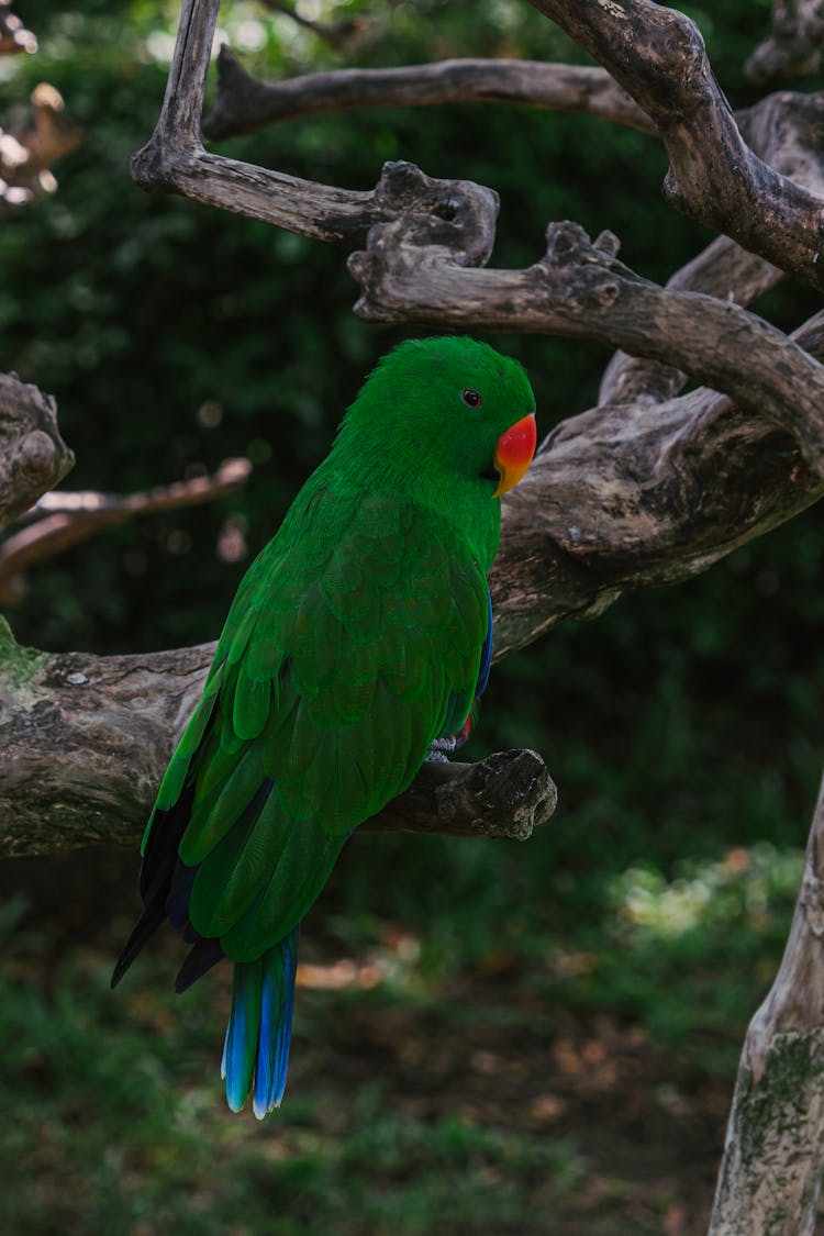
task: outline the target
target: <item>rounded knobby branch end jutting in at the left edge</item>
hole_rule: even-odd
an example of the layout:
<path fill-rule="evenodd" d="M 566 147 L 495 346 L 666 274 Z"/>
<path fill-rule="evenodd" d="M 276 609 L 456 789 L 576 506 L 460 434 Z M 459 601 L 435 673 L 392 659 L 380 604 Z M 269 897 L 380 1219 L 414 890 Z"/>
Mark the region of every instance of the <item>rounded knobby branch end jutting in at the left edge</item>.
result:
<path fill-rule="evenodd" d="M 74 466 L 57 428 L 57 404 L 14 373 L 0 375 L 0 528 L 33 506 Z"/>

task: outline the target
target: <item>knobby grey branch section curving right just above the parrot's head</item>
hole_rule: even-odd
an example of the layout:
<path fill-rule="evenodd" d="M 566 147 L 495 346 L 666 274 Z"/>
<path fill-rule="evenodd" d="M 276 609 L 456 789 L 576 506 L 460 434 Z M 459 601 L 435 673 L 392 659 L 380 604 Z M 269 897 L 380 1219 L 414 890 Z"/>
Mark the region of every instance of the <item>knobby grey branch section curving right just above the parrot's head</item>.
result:
<path fill-rule="evenodd" d="M 618 344 L 675 363 L 775 420 L 797 438 L 809 466 L 822 468 L 824 368 L 761 318 L 731 302 L 665 292 L 616 260 L 614 236 L 593 245 L 577 224 L 551 224 L 546 256 L 525 271 L 458 266 L 445 246 L 426 243 L 424 227 L 415 232 L 404 219 L 376 226 L 368 251 L 350 257 L 362 318 Z"/>

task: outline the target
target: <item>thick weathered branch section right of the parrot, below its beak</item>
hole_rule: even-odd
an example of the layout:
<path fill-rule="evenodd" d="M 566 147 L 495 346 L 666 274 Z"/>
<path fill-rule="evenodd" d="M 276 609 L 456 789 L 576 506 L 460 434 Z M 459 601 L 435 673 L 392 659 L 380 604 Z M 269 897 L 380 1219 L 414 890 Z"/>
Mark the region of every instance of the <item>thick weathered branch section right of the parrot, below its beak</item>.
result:
<path fill-rule="evenodd" d="M 791 438 L 707 391 L 573 417 L 504 502 L 498 653 L 625 590 L 689 578 L 822 496 Z"/>

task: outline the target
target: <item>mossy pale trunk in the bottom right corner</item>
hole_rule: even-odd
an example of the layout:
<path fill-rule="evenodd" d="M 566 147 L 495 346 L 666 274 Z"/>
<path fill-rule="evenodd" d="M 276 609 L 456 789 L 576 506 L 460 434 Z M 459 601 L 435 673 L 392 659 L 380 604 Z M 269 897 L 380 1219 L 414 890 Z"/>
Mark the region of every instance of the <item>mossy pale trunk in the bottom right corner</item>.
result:
<path fill-rule="evenodd" d="M 824 1162 L 824 782 L 783 960 L 750 1022 L 709 1236 L 813 1236 Z"/>

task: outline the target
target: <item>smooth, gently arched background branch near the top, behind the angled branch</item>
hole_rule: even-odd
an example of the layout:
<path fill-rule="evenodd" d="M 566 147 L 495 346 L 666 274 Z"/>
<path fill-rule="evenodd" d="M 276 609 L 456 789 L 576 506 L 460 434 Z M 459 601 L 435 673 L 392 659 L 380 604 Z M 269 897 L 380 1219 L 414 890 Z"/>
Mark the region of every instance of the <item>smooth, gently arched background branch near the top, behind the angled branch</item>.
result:
<path fill-rule="evenodd" d="M 420 108 L 442 103 L 516 103 L 578 111 L 656 132 L 650 117 L 599 68 L 539 61 L 451 59 L 390 69 L 332 69 L 259 82 L 224 44 L 217 96 L 203 122 L 212 141 L 264 125 L 343 108 Z"/>

